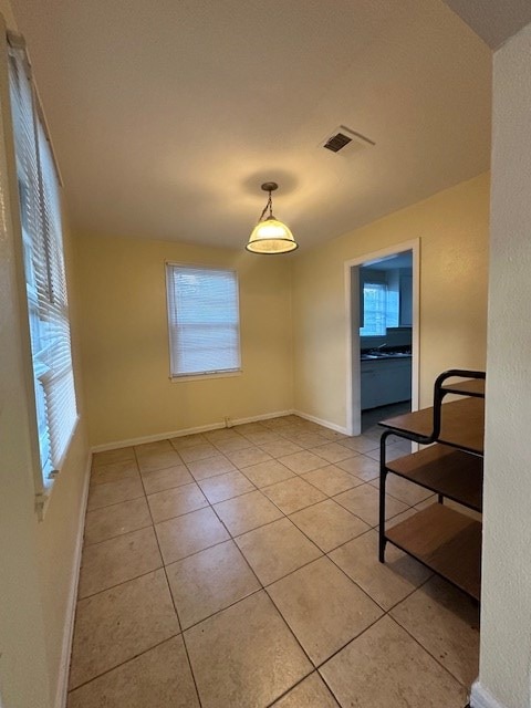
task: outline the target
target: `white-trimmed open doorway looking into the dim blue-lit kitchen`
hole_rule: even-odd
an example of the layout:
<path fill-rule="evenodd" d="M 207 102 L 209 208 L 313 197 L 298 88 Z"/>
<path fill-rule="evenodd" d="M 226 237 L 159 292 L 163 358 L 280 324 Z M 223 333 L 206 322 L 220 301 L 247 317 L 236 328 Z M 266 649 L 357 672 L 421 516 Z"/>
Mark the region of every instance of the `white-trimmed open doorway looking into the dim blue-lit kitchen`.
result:
<path fill-rule="evenodd" d="M 360 435 L 418 409 L 419 240 L 345 262 L 345 288 L 346 427 Z"/>

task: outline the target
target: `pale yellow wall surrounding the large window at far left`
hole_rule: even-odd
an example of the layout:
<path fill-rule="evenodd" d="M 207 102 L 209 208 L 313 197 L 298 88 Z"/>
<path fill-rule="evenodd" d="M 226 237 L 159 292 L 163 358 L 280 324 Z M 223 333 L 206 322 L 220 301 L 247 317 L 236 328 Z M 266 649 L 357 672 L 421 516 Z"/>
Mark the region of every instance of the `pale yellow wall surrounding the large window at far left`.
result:
<path fill-rule="evenodd" d="M 6 10 L 9 18 L 6 0 L 0 0 L 0 11 Z M 14 29 L 12 17 L 10 27 Z M 10 159 L 4 61 L 0 62 L 0 702 L 3 708 L 50 708 L 56 705 L 64 668 L 63 638 L 72 607 L 88 454 L 80 396 L 80 425 L 45 518 L 39 521 L 31 451 L 34 425 L 28 387 L 29 343 L 21 319 L 21 263 L 12 221 L 17 181 Z M 75 298 L 71 300 L 75 311 Z M 74 312 L 74 337 L 75 325 Z M 76 384 L 81 394 L 79 366 Z"/>

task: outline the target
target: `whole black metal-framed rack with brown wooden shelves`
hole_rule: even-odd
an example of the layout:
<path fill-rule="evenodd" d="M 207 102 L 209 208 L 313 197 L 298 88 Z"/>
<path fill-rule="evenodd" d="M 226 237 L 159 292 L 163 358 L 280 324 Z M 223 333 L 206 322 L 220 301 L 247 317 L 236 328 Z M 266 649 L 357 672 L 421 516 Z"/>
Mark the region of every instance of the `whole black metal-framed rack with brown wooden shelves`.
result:
<path fill-rule="evenodd" d="M 467 381 L 447 383 L 455 377 Z M 442 403 L 446 395 L 461 398 Z M 381 441 L 379 560 L 391 542 L 479 601 L 481 522 L 444 503 L 450 499 L 482 509 L 485 373 L 452 369 L 434 388 L 434 406 L 388 420 Z M 418 452 L 386 461 L 386 441 L 399 436 L 421 445 Z M 438 503 L 386 530 L 387 475 L 394 473 L 438 494 Z"/>

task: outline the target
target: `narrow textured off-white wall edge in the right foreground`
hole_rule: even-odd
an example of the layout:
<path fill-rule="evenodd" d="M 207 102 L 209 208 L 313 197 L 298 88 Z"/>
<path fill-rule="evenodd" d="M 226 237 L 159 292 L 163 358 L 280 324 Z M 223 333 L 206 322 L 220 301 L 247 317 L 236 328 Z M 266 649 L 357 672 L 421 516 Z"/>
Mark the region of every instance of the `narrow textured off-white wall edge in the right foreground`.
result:
<path fill-rule="evenodd" d="M 494 54 L 478 708 L 531 706 L 531 24 Z"/>

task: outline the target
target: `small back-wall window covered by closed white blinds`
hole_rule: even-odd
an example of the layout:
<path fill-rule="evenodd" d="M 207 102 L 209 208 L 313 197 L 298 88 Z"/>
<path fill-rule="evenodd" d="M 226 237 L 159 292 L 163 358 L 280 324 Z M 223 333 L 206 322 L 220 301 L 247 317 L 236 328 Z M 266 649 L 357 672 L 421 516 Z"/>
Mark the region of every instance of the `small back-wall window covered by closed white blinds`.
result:
<path fill-rule="evenodd" d="M 166 279 L 171 376 L 239 371 L 236 272 L 168 263 Z"/>

